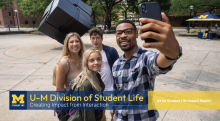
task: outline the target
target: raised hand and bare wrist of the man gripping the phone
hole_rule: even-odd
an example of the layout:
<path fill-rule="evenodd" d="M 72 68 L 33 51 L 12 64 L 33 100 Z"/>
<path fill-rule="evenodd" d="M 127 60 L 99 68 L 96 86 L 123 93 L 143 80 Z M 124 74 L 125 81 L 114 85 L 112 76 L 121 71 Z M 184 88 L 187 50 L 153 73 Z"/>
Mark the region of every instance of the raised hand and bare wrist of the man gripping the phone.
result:
<path fill-rule="evenodd" d="M 140 18 L 140 22 L 147 24 L 142 26 L 138 33 L 141 34 L 142 40 L 145 38 L 156 40 L 156 42 L 144 43 L 143 47 L 158 49 L 161 53 L 157 57 L 157 65 L 160 68 L 167 68 L 175 62 L 172 59 L 177 59 L 180 56 L 180 47 L 168 17 L 164 13 L 161 13 L 161 16 L 162 21 L 150 18 Z M 151 31 L 143 33 L 147 30 L 157 31 L 158 33 Z"/>

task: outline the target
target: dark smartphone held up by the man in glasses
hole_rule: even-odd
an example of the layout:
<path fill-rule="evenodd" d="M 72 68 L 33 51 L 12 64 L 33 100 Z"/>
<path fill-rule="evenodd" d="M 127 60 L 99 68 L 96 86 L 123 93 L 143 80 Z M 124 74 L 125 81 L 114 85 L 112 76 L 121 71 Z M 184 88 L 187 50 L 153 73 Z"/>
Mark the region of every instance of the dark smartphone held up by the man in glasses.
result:
<path fill-rule="evenodd" d="M 138 8 L 139 8 L 141 18 L 151 18 L 151 19 L 156 19 L 156 20 L 162 21 L 160 5 L 158 2 L 141 3 L 141 4 L 139 4 Z M 142 26 L 143 25 L 145 25 L 145 24 L 142 23 Z M 151 30 L 148 30 L 148 31 L 151 31 Z M 153 31 L 153 32 L 156 32 L 156 31 Z M 151 39 L 151 38 L 147 38 L 144 41 L 146 43 L 147 42 L 156 42 L 156 40 Z"/>

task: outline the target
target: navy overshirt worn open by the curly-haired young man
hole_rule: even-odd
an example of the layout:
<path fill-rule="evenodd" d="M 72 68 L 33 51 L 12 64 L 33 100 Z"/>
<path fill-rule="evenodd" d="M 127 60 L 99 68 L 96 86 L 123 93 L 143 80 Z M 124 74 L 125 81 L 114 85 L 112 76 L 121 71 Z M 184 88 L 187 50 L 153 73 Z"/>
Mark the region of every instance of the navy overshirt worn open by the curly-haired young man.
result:
<path fill-rule="evenodd" d="M 114 62 L 119 58 L 118 52 L 116 51 L 115 48 L 109 47 L 109 46 L 106 46 L 106 45 L 103 45 L 103 50 L 106 53 L 106 57 L 108 59 L 109 66 L 110 66 L 111 71 L 112 71 L 112 66 L 113 66 Z"/>

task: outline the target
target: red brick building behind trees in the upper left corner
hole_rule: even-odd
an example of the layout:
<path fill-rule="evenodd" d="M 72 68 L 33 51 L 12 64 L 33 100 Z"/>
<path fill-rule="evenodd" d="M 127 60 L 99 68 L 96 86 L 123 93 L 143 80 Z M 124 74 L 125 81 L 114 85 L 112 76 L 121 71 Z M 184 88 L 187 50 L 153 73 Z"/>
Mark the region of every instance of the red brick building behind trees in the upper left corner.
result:
<path fill-rule="evenodd" d="M 8 7 L 7 10 L 2 12 L 0 9 L 0 28 L 4 28 L 5 25 L 10 25 L 10 27 L 21 26 L 33 26 L 36 21 L 32 19 L 31 15 L 25 17 L 21 11 L 18 10 L 17 5 L 13 2 L 14 7 Z M 17 16 L 15 10 L 18 10 Z M 41 16 L 37 18 L 37 24 L 39 25 L 41 21 Z M 18 23 L 18 24 L 17 24 Z"/>

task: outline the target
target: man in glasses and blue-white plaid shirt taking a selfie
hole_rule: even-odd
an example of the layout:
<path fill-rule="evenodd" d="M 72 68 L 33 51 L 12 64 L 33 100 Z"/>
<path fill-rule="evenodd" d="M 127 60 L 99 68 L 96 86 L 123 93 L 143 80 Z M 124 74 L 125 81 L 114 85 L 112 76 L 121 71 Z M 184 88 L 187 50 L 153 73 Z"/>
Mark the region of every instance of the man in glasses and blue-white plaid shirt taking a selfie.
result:
<path fill-rule="evenodd" d="M 124 51 L 112 68 L 115 91 L 153 91 L 155 77 L 166 74 L 182 55 L 182 49 L 175 38 L 169 20 L 164 13 L 162 21 L 141 18 L 146 23 L 137 31 L 130 20 L 122 20 L 116 26 L 116 42 Z M 152 30 L 145 32 L 147 30 Z M 138 34 L 141 39 L 155 39 L 156 42 L 144 43 L 144 48 L 156 48 L 153 52 L 138 47 Z M 156 121 L 157 110 L 116 110 L 114 121 Z"/>

